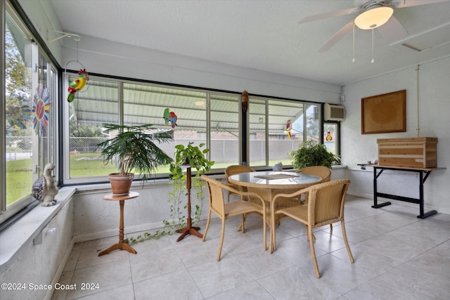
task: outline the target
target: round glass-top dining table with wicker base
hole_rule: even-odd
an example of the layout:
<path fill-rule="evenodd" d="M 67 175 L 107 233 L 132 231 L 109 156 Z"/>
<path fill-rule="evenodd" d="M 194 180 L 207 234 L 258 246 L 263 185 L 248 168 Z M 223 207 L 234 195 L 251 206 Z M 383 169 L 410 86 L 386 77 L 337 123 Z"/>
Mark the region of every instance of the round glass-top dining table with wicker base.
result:
<path fill-rule="evenodd" d="M 249 192 L 257 193 L 264 200 L 270 202 L 270 211 L 274 211 L 272 200 L 278 193 L 294 193 L 295 190 L 307 188 L 309 185 L 319 183 L 322 178 L 308 174 L 288 171 L 255 171 L 233 174 L 228 178 L 230 183 L 248 188 Z M 276 250 L 275 244 L 275 218 L 270 218 L 269 252 Z"/>

